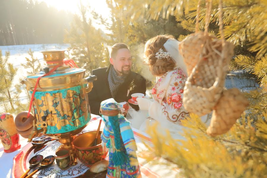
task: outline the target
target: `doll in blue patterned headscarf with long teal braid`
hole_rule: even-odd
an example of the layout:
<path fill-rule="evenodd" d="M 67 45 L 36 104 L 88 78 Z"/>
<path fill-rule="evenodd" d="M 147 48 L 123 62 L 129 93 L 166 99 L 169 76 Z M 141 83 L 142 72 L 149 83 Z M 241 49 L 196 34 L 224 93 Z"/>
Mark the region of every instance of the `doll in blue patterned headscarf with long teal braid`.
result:
<path fill-rule="evenodd" d="M 101 139 L 109 148 L 107 177 L 141 177 L 134 133 L 130 122 L 121 114 L 122 107 L 113 98 L 101 102 L 100 111 L 105 122 Z"/>

